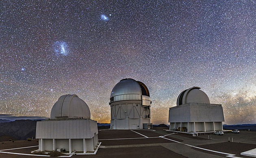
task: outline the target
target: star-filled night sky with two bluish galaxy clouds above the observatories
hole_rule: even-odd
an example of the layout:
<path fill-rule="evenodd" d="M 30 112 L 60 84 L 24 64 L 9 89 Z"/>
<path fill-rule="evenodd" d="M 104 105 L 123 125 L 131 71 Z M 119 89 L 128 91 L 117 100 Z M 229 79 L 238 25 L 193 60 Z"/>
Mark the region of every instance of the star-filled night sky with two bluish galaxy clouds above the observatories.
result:
<path fill-rule="evenodd" d="M 76 94 L 110 122 L 121 79 L 150 91 L 151 122 L 168 123 L 180 92 L 199 86 L 224 124 L 256 123 L 254 0 L 4 0 L 0 114 L 50 117 Z"/>

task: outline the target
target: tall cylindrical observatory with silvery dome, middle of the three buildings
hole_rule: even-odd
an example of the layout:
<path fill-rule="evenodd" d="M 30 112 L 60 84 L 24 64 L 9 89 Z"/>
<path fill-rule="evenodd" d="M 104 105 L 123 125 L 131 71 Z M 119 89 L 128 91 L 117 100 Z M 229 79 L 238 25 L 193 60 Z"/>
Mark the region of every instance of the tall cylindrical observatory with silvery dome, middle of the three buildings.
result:
<path fill-rule="evenodd" d="M 145 84 L 131 78 L 121 80 L 110 96 L 111 129 L 152 129 L 150 104 Z"/>

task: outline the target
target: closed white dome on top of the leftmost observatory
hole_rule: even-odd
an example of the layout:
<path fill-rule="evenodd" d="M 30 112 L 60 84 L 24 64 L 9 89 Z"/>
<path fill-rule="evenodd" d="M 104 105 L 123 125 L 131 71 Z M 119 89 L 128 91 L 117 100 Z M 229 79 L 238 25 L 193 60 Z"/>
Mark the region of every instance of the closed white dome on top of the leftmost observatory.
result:
<path fill-rule="evenodd" d="M 53 105 L 51 119 L 58 118 L 91 118 L 88 105 L 77 95 L 62 95 Z"/>

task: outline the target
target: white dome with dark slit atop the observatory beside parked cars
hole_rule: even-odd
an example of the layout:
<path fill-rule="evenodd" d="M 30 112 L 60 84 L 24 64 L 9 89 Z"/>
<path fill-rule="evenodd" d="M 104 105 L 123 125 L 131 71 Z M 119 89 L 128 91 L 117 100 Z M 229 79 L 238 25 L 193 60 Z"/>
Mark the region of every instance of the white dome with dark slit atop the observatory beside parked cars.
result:
<path fill-rule="evenodd" d="M 177 106 L 186 103 L 209 103 L 209 97 L 200 90 L 200 87 L 192 87 L 182 91 L 177 99 Z"/>

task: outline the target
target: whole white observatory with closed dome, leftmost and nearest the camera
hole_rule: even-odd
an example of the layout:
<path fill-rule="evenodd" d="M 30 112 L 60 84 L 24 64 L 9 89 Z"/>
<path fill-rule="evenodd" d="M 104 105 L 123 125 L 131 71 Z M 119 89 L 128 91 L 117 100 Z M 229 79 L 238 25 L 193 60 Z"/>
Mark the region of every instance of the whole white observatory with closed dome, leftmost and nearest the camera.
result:
<path fill-rule="evenodd" d="M 77 95 L 63 95 L 53 105 L 51 118 L 37 122 L 39 151 L 95 154 L 98 142 L 97 121 L 91 120 L 88 105 Z"/>

